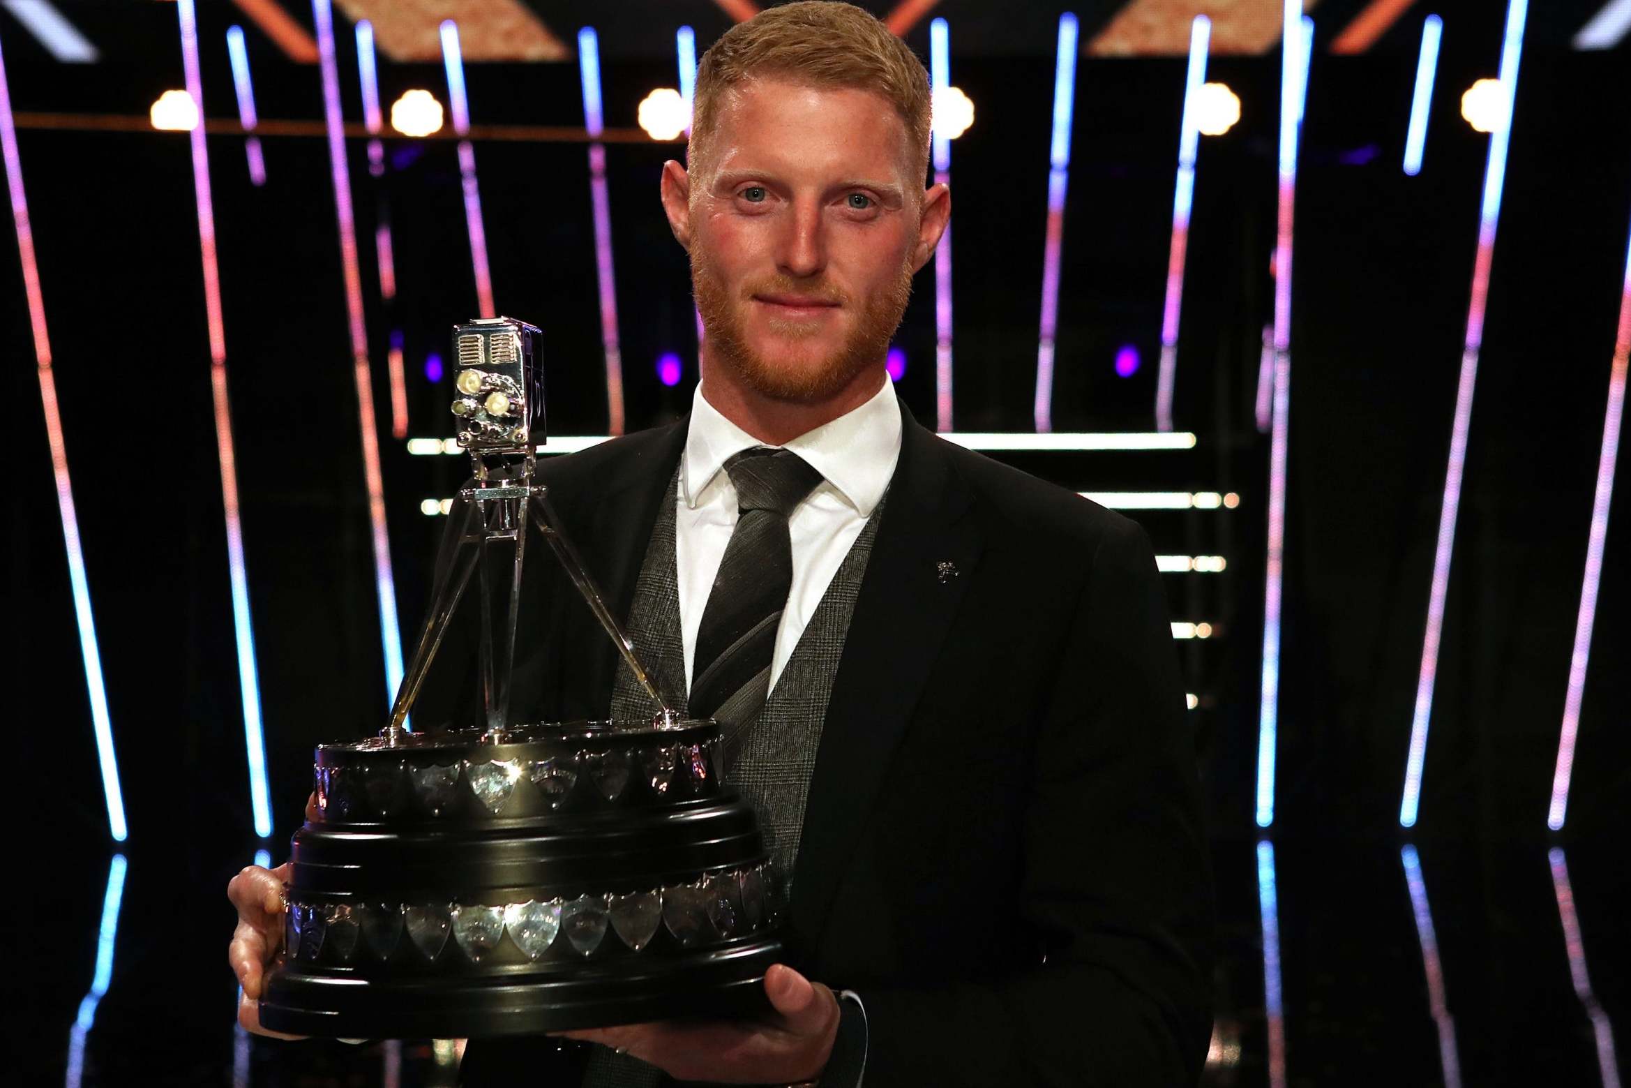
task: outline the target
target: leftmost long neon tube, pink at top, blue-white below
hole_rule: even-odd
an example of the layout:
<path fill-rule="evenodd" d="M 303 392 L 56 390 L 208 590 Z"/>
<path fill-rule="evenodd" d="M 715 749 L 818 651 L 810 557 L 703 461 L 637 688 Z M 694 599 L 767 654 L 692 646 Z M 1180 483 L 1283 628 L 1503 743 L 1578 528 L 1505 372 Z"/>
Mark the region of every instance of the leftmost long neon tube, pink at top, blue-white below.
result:
<path fill-rule="evenodd" d="M 80 657 L 85 664 L 85 693 L 90 698 L 91 731 L 96 736 L 96 762 L 101 767 L 103 801 L 108 806 L 108 830 L 114 837 L 114 842 L 124 842 L 129 834 L 124 822 L 124 791 L 119 788 L 119 762 L 113 750 L 113 719 L 108 714 L 108 690 L 103 685 L 101 651 L 96 646 L 96 620 L 91 613 L 90 579 L 85 576 L 85 548 L 80 545 L 80 515 L 73 506 L 73 481 L 69 476 L 69 450 L 62 437 L 57 378 L 51 369 L 51 333 L 46 326 L 46 297 L 39 289 L 39 266 L 34 261 L 34 228 L 28 219 L 28 196 L 23 192 L 23 160 L 16 150 L 16 126 L 11 119 L 11 88 L 7 82 L 3 55 L 0 55 L 0 153 L 5 157 L 7 189 L 11 196 L 11 222 L 16 227 L 16 250 L 23 264 L 28 321 L 34 333 L 39 400 L 46 413 L 46 440 L 51 445 L 51 473 L 57 486 L 62 545 L 69 558 L 69 586 L 73 594 L 73 618 L 80 633 Z"/>

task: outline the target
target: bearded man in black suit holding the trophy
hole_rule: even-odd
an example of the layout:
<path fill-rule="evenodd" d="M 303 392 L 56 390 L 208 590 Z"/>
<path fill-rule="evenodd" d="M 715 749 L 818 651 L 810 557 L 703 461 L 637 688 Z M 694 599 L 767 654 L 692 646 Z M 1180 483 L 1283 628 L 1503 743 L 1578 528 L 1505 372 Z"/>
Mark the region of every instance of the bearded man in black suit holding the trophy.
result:
<path fill-rule="evenodd" d="M 860 8 L 791 3 L 721 38 L 688 168 L 662 173 L 706 328 L 693 413 L 540 465 L 791 866 L 776 1013 L 574 1033 L 589 1050 L 478 1041 L 466 1083 L 1199 1075 L 1209 879 L 1148 540 L 936 439 L 884 372 L 949 215 L 928 135 L 922 64 Z M 649 713 L 564 577 L 537 581 L 519 713 Z M 470 710 L 427 700 L 421 721 Z M 258 1028 L 277 876 L 232 896 Z"/>

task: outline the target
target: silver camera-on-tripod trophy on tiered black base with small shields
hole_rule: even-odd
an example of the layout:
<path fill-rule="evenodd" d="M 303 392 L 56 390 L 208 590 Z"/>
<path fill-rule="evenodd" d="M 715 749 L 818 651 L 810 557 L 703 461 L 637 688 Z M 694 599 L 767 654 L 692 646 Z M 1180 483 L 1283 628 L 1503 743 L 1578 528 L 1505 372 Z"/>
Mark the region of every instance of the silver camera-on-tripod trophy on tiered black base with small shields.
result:
<path fill-rule="evenodd" d="M 535 480 L 538 347 L 512 318 L 453 329 L 473 480 L 390 721 L 316 749 L 315 816 L 294 835 L 284 948 L 261 998 L 274 1031 L 470 1037 L 768 1006 L 778 874 L 752 807 L 719 781 L 718 724 L 664 703 Z M 512 721 L 528 537 L 564 566 L 652 719 Z M 483 724 L 409 731 L 473 581 Z"/>

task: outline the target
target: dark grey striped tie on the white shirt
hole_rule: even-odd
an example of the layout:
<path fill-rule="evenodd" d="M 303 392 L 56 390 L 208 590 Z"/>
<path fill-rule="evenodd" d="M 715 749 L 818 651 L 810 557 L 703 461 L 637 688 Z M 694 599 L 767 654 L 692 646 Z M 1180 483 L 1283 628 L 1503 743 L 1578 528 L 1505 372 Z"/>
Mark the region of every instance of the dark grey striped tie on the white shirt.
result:
<path fill-rule="evenodd" d="M 696 633 L 690 714 L 719 719 L 729 765 L 770 695 L 776 628 L 793 587 L 788 515 L 822 476 L 798 453 L 768 447 L 742 450 L 724 470 L 740 514 Z"/>

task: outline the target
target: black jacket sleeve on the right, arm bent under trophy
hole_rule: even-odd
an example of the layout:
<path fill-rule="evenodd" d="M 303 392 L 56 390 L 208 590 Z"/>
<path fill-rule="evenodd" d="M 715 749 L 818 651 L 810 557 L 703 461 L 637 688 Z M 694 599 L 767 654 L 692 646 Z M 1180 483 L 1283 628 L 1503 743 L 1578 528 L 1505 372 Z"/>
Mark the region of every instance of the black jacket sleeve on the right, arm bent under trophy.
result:
<path fill-rule="evenodd" d="M 1036 739 L 1021 913 L 1045 958 L 987 985 L 856 987 L 868 1088 L 1196 1083 L 1212 891 L 1182 700 L 1148 537 L 1117 519 Z"/>

